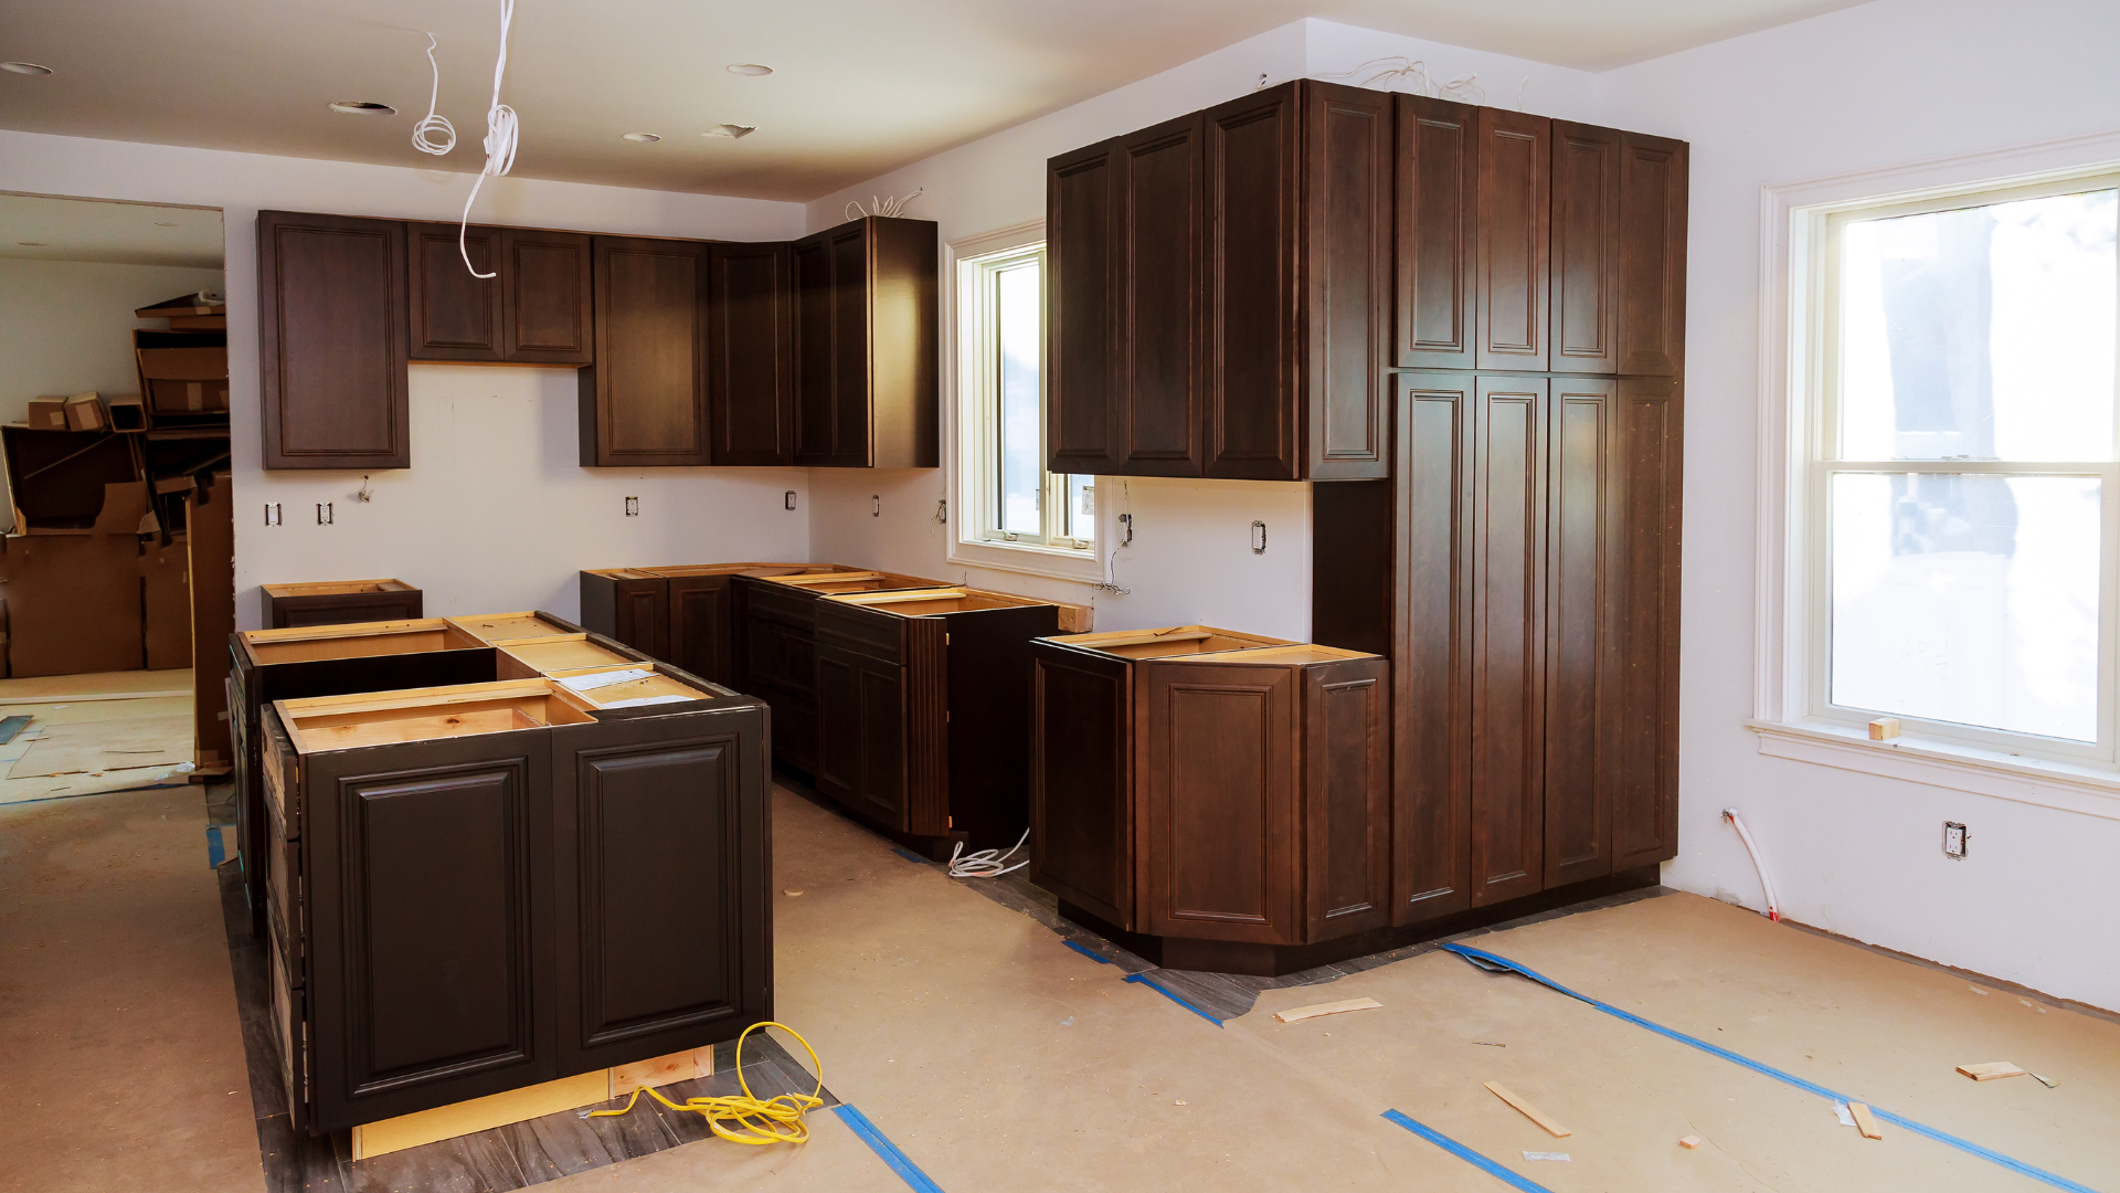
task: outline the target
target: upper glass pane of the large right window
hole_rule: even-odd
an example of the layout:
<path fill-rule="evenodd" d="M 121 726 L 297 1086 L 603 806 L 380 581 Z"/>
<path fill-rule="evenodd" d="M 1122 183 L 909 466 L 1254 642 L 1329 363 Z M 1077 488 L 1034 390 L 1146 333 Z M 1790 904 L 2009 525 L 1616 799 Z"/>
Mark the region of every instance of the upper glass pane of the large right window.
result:
<path fill-rule="evenodd" d="M 2116 195 L 1847 223 L 1838 459 L 2114 459 Z"/>

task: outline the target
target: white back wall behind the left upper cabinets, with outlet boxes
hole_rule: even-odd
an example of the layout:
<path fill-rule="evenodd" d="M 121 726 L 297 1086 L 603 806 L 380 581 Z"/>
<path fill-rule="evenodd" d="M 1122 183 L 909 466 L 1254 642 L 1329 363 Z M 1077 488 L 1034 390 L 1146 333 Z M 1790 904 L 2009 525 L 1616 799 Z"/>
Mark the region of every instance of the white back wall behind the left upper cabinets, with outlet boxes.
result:
<path fill-rule="evenodd" d="M 534 127 L 524 138 L 536 136 Z M 407 159 L 418 157 L 405 146 Z M 477 149 L 458 149 L 462 166 Z M 430 613 L 577 611 L 583 567 L 808 558 L 808 518 L 782 509 L 799 469 L 583 469 L 572 369 L 411 367 L 413 467 L 263 471 L 259 444 L 257 236 L 261 208 L 454 221 L 471 176 L 161 144 L 0 132 L 0 189 L 218 206 L 227 223 L 233 405 L 235 611 L 259 622 L 265 582 L 396 575 Z M 473 219 L 632 236 L 780 240 L 803 208 L 761 200 L 498 178 Z M 167 297 L 167 295 L 163 295 Z M 628 518 L 625 497 L 640 497 Z M 284 524 L 265 526 L 280 503 Z M 333 524 L 316 524 L 316 503 Z M 753 516 L 757 514 L 757 516 Z"/>

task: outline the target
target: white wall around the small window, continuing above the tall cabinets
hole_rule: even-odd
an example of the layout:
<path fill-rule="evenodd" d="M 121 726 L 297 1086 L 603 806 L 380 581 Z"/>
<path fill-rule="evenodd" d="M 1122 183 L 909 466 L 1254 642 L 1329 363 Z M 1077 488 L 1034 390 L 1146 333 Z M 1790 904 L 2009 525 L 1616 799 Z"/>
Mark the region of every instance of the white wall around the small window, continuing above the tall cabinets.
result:
<path fill-rule="evenodd" d="M 941 240 L 967 240 L 1045 214 L 1045 159 L 1244 96 L 1297 76 L 1370 81 L 1393 62 L 1423 62 L 1435 79 L 1478 74 L 1490 100 L 1518 91 L 1529 110 L 1598 119 L 1592 74 L 1535 62 L 1376 34 L 1331 21 L 1295 21 L 1185 66 L 1107 91 L 1011 129 L 916 161 L 810 204 L 810 229 L 846 219 L 846 204 L 922 189 L 907 214 L 933 219 Z M 1372 83 L 1389 87 L 1389 81 Z M 946 287 L 948 291 L 948 280 Z M 943 301 L 948 316 L 948 295 Z M 946 327 L 943 355 L 952 352 Z M 948 376 L 948 369 L 943 371 Z M 943 444 L 954 444 L 952 397 L 943 395 Z M 1128 594 L 1085 582 L 954 565 L 935 505 L 950 495 L 948 469 L 810 476 L 810 541 L 816 558 L 880 563 L 914 575 L 1085 601 L 1098 628 L 1185 622 L 1280 637 L 1310 633 L 1310 486 L 1266 482 L 1105 480 L 1098 484 L 1100 541 L 1109 571 Z M 871 514 L 880 501 L 880 514 Z M 1134 514 L 1132 546 L 1111 550 L 1113 518 Z M 1251 552 L 1251 522 L 1268 526 L 1266 554 Z"/>

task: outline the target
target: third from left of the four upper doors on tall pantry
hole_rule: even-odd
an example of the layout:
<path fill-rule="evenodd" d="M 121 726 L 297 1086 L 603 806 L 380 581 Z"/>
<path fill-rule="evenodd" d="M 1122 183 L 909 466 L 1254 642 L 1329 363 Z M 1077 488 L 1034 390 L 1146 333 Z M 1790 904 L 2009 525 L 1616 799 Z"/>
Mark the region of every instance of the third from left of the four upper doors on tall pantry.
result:
<path fill-rule="evenodd" d="M 1554 121 L 1552 371 L 1620 367 L 1620 132 Z"/>

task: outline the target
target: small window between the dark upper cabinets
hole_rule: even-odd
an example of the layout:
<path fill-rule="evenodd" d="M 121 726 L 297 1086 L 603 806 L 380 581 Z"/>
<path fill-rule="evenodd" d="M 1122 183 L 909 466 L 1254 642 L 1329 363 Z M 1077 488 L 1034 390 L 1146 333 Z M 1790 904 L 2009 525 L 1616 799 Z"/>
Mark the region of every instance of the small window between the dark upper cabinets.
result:
<path fill-rule="evenodd" d="M 962 509 L 952 558 L 1094 577 L 1096 478 L 1045 471 L 1043 225 L 952 253 Z"/>

